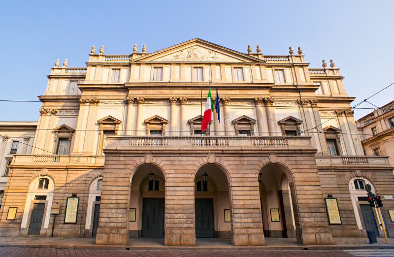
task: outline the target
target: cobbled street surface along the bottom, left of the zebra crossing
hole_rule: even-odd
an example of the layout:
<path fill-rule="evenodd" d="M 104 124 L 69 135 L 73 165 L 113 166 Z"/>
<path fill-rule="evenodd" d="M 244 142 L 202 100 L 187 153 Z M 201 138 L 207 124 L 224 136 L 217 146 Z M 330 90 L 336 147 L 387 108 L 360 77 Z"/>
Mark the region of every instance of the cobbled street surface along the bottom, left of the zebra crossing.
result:
<path fill-rule="evenodd" d="M 378 250 L 381 251 L 381 250 Z M 56 249 L 56 248 L 24 248 L 0 247 L 0 257 L 353 257 L 342 250 L 89 250 L 89 249 Z"/>

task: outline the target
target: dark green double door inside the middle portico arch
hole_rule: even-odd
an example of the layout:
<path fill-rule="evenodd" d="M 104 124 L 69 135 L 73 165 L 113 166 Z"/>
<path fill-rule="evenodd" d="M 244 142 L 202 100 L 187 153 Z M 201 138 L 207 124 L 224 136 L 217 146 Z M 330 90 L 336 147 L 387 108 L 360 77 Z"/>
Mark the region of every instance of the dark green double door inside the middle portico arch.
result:
<path fill-rule="evenodd" d="M 213 199 L 196 199 L 196 237 L 215 237 Z"/>

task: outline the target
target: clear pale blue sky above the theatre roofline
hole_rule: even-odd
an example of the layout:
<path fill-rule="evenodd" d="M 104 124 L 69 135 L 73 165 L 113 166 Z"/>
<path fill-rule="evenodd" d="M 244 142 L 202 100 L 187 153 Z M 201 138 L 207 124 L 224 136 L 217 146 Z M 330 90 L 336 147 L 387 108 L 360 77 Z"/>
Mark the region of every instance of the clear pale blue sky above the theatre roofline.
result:
<path fill-rule="evenodd" d="M 128 54 L 133 44 L 154 52 L 199 37 L 244 53 L 248 44 L 267 55 L 301 46 L 310 67 L 333 59 L 354 105 L 394 82 L 393 9 L 390 0 L 2 1 L 0 99 L 36 100 L 57 58 L 85 66 L 92 45 Z M 394 86 L 370 101 L 382 106 L 393 93 Z M 39 106 L 0 102 L 0 121 L 38 120 Z"/>

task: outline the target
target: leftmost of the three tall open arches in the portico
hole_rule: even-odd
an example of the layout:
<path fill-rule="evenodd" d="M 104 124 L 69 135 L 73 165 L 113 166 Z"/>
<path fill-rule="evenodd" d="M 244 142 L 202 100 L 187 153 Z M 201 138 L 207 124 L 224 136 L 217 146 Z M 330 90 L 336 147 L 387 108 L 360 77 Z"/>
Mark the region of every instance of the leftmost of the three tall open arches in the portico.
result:
<path fill-rule="evenodd" d="M 131 178 L 129 237 L 164 237 L 164 173 L 155 164 L 137 167 Z"/>

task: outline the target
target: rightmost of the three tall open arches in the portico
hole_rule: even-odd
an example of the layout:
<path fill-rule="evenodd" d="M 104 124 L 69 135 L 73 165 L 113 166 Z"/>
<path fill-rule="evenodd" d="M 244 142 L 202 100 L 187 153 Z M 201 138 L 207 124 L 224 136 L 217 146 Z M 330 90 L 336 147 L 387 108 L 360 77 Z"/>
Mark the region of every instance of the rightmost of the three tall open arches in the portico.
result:
<path fill-rule="evenodd" d="M 277 163 L 265 165 L 259 174 L 265 237 L 296 237 L 291 180 L 290 172 Z"/>

